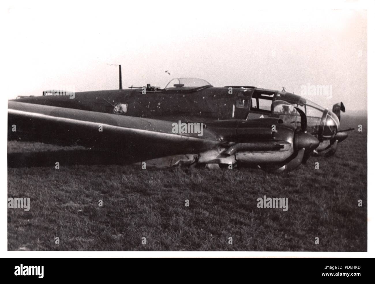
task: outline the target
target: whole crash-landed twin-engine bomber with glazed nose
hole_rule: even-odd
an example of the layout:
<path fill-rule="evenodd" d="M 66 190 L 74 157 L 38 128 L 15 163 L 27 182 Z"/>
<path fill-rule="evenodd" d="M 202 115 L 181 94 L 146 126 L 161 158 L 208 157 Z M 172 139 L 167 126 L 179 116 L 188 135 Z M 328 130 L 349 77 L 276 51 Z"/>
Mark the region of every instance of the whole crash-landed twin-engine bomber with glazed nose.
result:
<path fill-rule="evenodd" d="M 165 88 L 43 91 L 8 101 L 8 139 L 82 145 L 171 165 L 292 170 L 311 155 L 333 155 L 342 103 L 324 109 L 301 96 L 252 86 L 213 87 L 197 78 Z M 14 126 L 17 131 L 12 131 Z"/>

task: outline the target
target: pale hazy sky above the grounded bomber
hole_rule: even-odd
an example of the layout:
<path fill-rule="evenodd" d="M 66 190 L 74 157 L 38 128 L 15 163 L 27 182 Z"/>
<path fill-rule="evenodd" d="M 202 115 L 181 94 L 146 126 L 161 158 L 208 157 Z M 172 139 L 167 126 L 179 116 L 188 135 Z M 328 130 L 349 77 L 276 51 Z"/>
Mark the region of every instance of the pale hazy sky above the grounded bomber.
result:
<path fill-rule="evenodd" d="M 228 1 L 9 3 L 8 99 L 63 86 L 117 89 L 118 67 L 108 64 L 121 64 L 124 88 L 165 87 L 180 77 L 296 94 L 306 85 L 327 85 L 332 98 L 308 99 L 328 108 L 342 101 L 350 110 L 367 109 L 365 10 L 281 10 Z"/>

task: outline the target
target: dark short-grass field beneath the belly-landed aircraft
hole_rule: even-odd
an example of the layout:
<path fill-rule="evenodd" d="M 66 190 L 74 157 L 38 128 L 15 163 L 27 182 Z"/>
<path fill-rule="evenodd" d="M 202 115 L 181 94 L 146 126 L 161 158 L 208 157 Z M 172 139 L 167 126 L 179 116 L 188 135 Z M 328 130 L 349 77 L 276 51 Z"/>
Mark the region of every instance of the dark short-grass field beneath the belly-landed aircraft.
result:
<path fill-rule="evenodd" d="M 8 209 L 8 250 L 367 251 L 366 120 L 344 117 L 356 130 L 334 157 L 283 174 L 142 170 L 80 147 L 10 141 L 8 197 L 31 204 Z M 288 211 L 257 208 L 264 195 L 288 197 Z"/>

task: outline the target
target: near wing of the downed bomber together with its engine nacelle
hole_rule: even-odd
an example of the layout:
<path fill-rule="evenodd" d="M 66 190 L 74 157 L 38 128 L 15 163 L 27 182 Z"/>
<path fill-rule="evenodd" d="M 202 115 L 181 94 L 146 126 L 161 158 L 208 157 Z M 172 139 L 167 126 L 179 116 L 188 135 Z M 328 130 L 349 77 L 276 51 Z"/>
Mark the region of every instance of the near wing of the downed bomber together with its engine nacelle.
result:
<path fill-rule="evenodd" d="M 123 156 L 154 159 L 199 154 L 198 163 L 240 161 L 284 171 L 299 166 L 319 145 L 314 136 L 278 118 L 211 121 L 199 133 L 174 133 L 173 124 L 8 101 L 8 139 L 81 145 Z"/>

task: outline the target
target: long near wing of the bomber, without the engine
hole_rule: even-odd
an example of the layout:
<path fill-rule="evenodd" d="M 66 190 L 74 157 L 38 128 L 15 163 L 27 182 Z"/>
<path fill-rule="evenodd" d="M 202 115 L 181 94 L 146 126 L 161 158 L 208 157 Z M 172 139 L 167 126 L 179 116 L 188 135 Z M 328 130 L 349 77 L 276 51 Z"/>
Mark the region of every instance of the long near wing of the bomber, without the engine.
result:
<path fill-rule="evenodd" d="M 172 133 L 172 129 L 170 121 L 8 101 L 8 137 L 13 139 L 81 145 L 150 159 L 197 153 L 220 143 L 219 136 L 207 129 L 202 136 Z"/>

